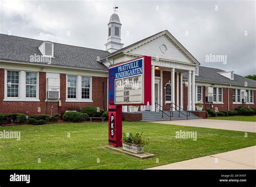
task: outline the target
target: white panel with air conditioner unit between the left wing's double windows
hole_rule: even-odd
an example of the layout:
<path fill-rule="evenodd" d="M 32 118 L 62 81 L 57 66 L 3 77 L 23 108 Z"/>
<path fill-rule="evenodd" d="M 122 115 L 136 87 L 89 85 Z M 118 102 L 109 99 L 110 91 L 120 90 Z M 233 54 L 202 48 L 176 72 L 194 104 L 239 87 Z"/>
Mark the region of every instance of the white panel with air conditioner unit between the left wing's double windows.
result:
<path fill-rule="evenodd" d="M 59 78 L 48 78 L 47 81 L 47 98 L 48 99 L 59 99 Z"/>

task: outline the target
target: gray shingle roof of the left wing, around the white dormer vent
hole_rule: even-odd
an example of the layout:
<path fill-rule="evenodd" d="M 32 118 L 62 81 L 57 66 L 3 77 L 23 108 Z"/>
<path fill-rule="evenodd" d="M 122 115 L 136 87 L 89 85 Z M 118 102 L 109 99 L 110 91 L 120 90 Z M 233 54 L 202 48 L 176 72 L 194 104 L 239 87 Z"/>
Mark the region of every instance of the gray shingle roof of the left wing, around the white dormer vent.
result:
<path fill-rule="evenodd" d="M 42 42 L 42 40 L 0 34 L 0 60 L 37 63 L 30 62 L 30 55 L 41 55 L 37 47 Z M 51 65 L 107 71 L 107 67 L 97 62 L 97 56 L 102 58 L 110 54 L 109 52 L 65 44 L 53 44 L 55 58 L 51 59 Z"/>

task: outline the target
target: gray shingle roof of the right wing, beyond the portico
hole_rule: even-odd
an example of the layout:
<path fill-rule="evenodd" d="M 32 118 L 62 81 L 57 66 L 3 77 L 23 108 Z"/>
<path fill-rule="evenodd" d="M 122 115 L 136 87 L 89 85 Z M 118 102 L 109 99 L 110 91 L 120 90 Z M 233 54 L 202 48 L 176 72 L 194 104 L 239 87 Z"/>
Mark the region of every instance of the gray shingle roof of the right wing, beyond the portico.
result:
<path fill-rule="evenodd" d="M 248 85 L 256 87 L 256 81 L 251 80 L 250 78 L 246 78 L 246 77 L 234 74 L 234 80 L 230 80 L 229 78 L 218 74 L 219 72 L 223 72 L 223 71 L 225 70 L 199 66 L 199 71 L 198 71 L 199 75 L 195 76 L 195 78 L 196 78 L 196 81 L 224 83 L 224 84 L 244 85 L 245 82 L 247 82 Z M 183 74 L 183 78 L 187 79 L 187 73 Z"/>

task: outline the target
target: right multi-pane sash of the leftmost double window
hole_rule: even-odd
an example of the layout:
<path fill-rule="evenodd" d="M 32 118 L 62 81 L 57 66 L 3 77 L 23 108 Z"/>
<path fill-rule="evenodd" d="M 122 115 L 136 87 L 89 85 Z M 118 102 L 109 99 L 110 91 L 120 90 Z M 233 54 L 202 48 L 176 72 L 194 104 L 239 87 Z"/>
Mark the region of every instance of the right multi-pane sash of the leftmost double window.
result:
<path fill-rule="evenodd" d="M 37 73 L 26 72 L 26 97 L 37 97 Z"/>

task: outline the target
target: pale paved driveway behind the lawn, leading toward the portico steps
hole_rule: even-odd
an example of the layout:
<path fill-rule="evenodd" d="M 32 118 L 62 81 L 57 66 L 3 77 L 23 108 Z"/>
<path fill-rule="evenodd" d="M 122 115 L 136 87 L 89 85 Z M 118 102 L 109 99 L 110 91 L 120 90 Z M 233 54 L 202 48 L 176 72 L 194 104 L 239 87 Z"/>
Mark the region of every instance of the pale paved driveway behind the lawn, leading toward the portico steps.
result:
<path fill-rule="evenodd" d="M 218 119 L 189 119 L 174 121 L 152 121 L 152 123 L 182 125 L 192 127 L 218 128 L 232 131 L 256 132 L 256 123 Z"/>

